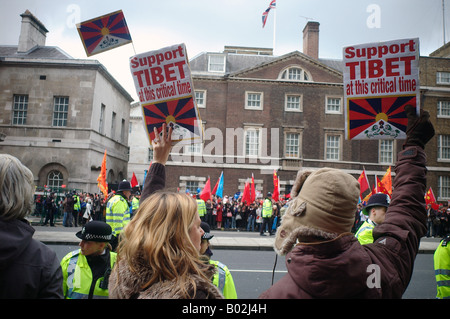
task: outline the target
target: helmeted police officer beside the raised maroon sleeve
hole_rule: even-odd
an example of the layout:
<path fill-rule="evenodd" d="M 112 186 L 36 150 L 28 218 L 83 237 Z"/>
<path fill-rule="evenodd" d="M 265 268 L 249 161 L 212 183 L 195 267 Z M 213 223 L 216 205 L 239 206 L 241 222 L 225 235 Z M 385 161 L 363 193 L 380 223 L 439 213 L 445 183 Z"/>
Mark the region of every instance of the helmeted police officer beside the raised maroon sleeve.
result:
<path fill-rule="evenodd" d="M 362 211 L 369 218 L 359 227 L 355 234 L 361 245 L 373 243 L 372 231 L 376 225 L 384 222 L 390 202 L 389 195 L 383 193 L 373 194 L 369 198 L 366 207 Z"/>

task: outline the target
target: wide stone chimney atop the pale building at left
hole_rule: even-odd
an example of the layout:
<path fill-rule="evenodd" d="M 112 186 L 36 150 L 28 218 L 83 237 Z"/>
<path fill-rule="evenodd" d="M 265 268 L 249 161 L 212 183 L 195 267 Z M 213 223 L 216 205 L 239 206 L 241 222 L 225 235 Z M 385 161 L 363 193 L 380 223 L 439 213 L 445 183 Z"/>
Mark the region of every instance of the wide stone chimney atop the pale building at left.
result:
<path fill-rule="evenodd" d="M 18 53 L 25 53 L 35 46 L 45 46 L 48 30 L 30 11 L 26 10 L 20 15 L 22 28 L 20 30 Z"/>

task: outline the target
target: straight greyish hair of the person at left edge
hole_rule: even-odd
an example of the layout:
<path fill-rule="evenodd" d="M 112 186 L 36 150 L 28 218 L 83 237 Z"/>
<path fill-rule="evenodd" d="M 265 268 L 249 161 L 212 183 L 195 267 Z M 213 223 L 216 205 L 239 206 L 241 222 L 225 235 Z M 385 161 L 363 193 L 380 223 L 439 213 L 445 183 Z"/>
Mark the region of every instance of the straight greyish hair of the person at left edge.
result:
<path fill-rule="evenodd" d="M 0 217 L 24 219 L 33 209 L 33 173 L 16 157 L 0 154 Z"/>

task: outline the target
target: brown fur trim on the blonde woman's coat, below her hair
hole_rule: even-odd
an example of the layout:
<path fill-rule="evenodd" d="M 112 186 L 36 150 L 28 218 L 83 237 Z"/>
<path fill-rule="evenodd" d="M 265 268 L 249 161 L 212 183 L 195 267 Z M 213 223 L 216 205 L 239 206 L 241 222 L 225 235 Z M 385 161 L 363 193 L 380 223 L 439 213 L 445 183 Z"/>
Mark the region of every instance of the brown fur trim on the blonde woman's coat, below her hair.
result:
<path fill-rule="evenodd" d="M 116 263 L 109 279 L 109 298 L 111 299 L 182 299 L 183 294 L 179 285 L 174 281 L 162 281 L 141 290 L 151 275 L 151 269 L 139 266 L 138 271 L 132 272 L 126 261 Z M 207 270 L 207 277 L 212 278 L 215 267 L 211 265 Z M 223 299 L 222 294 L 212 281 L 206 281 L 198 275 L 192 275 L 196 282 L 189 287 L 189 294 L 196 299 Z"/>

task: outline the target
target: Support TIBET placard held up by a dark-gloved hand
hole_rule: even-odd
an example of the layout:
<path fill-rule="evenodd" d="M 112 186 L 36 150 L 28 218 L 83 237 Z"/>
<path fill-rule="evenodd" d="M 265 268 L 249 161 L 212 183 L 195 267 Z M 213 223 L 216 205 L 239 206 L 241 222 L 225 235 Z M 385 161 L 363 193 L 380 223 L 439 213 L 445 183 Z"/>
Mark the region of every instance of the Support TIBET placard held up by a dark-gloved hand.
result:
<path fill-rule="evenodd" d="M 420 110 L 419 39 L 343 49 L 346 139 L 405 139 L 404 107 Z"/>

